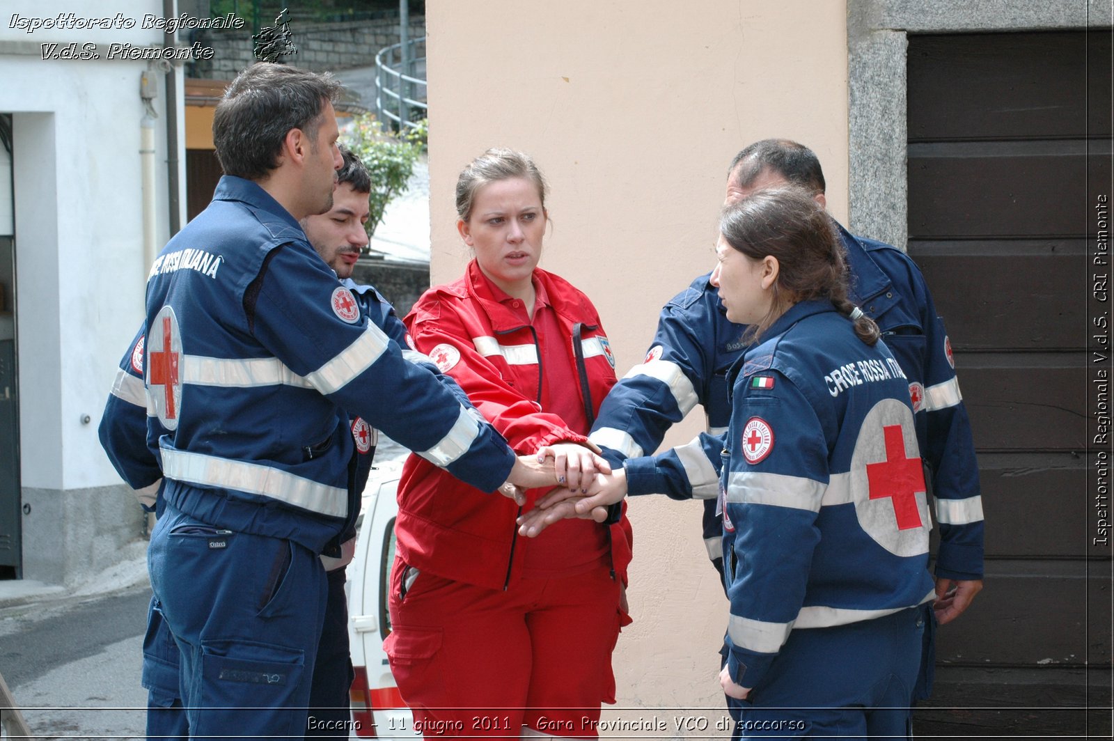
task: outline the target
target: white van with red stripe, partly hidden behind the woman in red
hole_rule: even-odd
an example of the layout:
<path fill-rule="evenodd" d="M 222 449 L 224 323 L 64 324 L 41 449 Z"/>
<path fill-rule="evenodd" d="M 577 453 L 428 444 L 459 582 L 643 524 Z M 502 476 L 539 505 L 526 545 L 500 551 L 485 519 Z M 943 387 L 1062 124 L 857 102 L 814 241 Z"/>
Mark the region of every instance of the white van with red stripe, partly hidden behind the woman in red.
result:
<path fill-rule="evenodd" d="M 382 438 L 380 438 L 382 439 Z M 350 739 L 413 739 L 413 719 L 402 702 L 383 641 L 391 633 L 387 597 L 394 562 L 395 491 L 401 460 L 378 462 L 363 490 L 355 556 L 348 567 L 349 641 L 355 681 Z"/>

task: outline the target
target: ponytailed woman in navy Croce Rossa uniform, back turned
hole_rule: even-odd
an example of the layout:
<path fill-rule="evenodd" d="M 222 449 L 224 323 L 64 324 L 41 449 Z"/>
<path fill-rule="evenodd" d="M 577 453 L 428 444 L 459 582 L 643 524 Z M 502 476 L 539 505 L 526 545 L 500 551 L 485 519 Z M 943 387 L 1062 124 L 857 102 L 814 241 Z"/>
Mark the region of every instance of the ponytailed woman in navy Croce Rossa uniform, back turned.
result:
<path fill-rule="evenodd" d="M 727 374 L 716 461 L 731 599 L 720 683 L 740 701 L 736 735 L 906 735 L 934 597 L 909 382 L 848 300 L 834 227 L 809 194 L 759 191 L 720 232 L 712 283 L 752 344 Z M 671 490 L 670 461 L 628 459 L 576 511 Z"/>

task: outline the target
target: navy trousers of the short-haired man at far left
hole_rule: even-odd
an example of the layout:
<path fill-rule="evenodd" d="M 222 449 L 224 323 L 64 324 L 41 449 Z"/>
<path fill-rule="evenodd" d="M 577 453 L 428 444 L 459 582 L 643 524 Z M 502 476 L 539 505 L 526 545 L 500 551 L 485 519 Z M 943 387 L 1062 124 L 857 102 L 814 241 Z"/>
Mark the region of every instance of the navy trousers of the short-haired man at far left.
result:
<path fill-rule="evenodd" d="M 152 533 L 148 567 L 180 652 L 190 732 L 303 738 L 325 608 L 317 556 L 168 505 Z"/>

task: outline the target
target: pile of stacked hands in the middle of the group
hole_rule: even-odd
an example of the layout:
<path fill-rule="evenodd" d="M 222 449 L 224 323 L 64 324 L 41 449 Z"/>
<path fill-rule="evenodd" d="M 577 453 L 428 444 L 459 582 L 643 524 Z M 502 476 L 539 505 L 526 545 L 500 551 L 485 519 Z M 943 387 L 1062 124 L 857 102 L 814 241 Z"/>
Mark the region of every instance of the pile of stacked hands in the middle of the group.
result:
<path fill-rule="evenodd" d="M 557 486 L 554 486 L 556 484 Z M 518 518 L 519 535 L 535 537 L 554 523 L 579 517 L 603 523 L 607 507 L 626 496 L 626 471 L 612 471 L 595 450 L 565 442 L 545 446 L 534 456 L 519 456 L 510 478 L 499 493 L 526 504 L 522 489 L 553 486 L 538 498 L 534 509 Z"/>

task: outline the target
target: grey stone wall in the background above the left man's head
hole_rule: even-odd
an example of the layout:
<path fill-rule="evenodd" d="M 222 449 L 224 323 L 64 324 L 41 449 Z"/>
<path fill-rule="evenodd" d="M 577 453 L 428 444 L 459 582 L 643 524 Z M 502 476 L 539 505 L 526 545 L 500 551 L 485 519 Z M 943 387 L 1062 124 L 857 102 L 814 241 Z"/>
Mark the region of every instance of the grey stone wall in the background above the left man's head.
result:
<path fill-rule="evenodd" d="M 297 53 L 286 57 L 290 64 L 315 72 L 371 67 L 383 47 L 399 42 L 399 21 L 384 18 L 336 23 L 290 22 L 291 42 Z M 426 38 L 426 18 L 410 17 L 410 38 Z M 212 59 L 199 59 L 186 66 L 187 77 L 231 80 L 255 61 L 250 29 L 197 29 L 189 42 L 212 47 Z"/>

